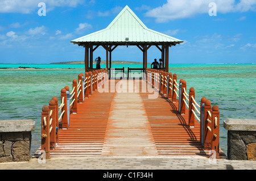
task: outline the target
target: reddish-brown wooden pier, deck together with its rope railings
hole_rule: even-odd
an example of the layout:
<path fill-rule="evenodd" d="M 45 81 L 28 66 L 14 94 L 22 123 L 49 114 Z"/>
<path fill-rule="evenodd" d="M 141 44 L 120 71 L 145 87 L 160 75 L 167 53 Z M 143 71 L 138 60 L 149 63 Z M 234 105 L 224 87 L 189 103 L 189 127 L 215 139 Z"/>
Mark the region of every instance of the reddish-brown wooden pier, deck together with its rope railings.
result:
<path fill-rule="evenodd" d="M 107 76 L 102 76 L 102 74 Z M 160 78 L 157 78 L 156 75 L 160 75 Z M 94 79 L 92 79 L 93 77 Z M 218 147 L 209 148 L 209 144 L 216 144 L 213 143 L 214 141 L 202 144 L 200 132 L 202 125 L 192 117 L 193 125 L 191 126 L 191 123 L 189 123 L 191 122 L 189 107 L 187 108 L 183 105 L 184 113 L 181 114 L 181 110 L 179 111 L 179 99 L 175 102 L 172 101 L 173 98 L 170 91 L 176 93 L 178 91 L 177 89 L 174 91 L 175 77 L 170 76 L 170 74 L 167 77 L 167 73 L 163 71 L 161 73 L 150 69 L 147 70 L 146 77 L 146 79 L 108 79 L 108 71 L 105 70 L 98 71 L 98 74 L 95 72 L 85 74 L 85 89 L 82 86 L 79 89 L 77 89 L 76 85 L 73 86 L 75 87 L 73 90 L 77 89 L 77 92 L 82 90 L 84 94 L 80 93 L 79 96 L 73 96 L 73 100 L 77 104 L 76 108 L 69 108 L 68 128 L 63 129 L 65 124 L 63 123 L 65 121 L 64 116 L 67 115 L 59 112 L 58 117 L 60 113 L 62 117 L 59 127 L 56 126 L 57 133 L 53 133 L 56 134 L 57 138 L 53 138 L 53 140 L 43 136 L 44 134 L 52 134 L 51 131 L 54 129 L 51 129 L 52 122 L 49 124 L 49 128 L 47 128 L 48 124 L 46 124 L 46 127 L 43 124 L 44 120 L 50 121 L 50 117 L 56 116 L 51 115 L 51 110 L 48 110 L 48 117 L 43 115 L 43 108 L 42 148 L 46 151 L 47 158 L 92 155 L 198 155 L 209 157 L 212 154 L 210 150 L 217 151 L 218 158 L 219 156 L 225 156 L 224 152 Z M 94 85 L 90 87 L 92 85 L 88 84 L 89 78 L 94 82 L 95 87 Z M 169 89 L 164 89 L 167 85 L 171 85 L 171 82 L 173 86 L 168 86 Z M 156 86 L 152 88 L 152 83 L 155 85 L 156 83 L 158 85 L 162 84 L 162 91 L 161 86 L 159 89 Z M 80 84 L 81 81 L 77 86 Z M 151 87 L 150 92 L 147 89 L 146 91 L 144 90 L 145 85 Z M 101 86 L 105 86 L 104 91 L 99 89 Z M 114 91 L 112 90 L 113 87 Z M 87 95 L 88 89 L 91 89 L 92 92 Z M 73 92 L 75 92 L 73 94 L 77 94 L 76 91 Z M 168 94 L 169 96 L 167 96 Z M 84 96 L 84 101 L 79 103 L 81 95 Z M 150 98 L 150 96 L 155 97 Z M 62 110 L 63 112 L 64 107 L 60 111 Z M 72 109 L 76 110 L 76 112 L 72 112 Z M 213 116 L 213 112 L 211 116 Z M 205 119 L 208 119 L 208 117 Z M 208 129 L 213 131 L 213 128 L 209 126 Z M 210 133 L 208 129 L 205 131 L 207 134 Z M 205 141 L 207 141 L 207 135 L 204 137 Z M 49 140 L 47 140 L 48 138 Z M 210 139 L 216 140 L 216 137 L 212 136 Z M 39 148 L 39 150 L 42 148 Z M 38 154 L 38 151 L 36 151 L 35 155 Z"/>

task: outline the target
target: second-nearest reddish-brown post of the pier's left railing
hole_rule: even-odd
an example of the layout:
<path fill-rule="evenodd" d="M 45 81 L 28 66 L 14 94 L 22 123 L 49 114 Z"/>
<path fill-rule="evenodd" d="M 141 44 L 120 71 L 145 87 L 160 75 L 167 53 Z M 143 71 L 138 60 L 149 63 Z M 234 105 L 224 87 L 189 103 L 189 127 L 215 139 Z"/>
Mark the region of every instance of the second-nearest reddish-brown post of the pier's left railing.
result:
<path fill-rule="evenodd" d="M 49 133 L 50 133 L 50 149 L 55 149 L 56 148 L 56 106 L 55 106 L 55 100 L 51 99 L 49 101 Z"/>

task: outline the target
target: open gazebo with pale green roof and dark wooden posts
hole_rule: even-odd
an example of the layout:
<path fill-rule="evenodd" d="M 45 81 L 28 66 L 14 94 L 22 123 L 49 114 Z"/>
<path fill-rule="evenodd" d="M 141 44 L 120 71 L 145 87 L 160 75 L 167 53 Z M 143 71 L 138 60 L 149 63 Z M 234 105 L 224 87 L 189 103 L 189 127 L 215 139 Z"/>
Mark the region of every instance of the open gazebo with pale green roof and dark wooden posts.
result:
<path fill-rule="evenodd" d="M 183 43 L 183 41 L 150 30 L 128 6 L 125 6 L 104 30 L 79 37 L 71 43 L 85 48 L 85 71 L 93 69 L 93 52 L 100 46 L 106 50 L 106 68 L 111 68 L 112 52 L 121 45 L 134 45 L 142 50 L 143 71 L 147 68 L 148 49 L 156 46 L 162 52 L 163 68 L 168 71 L 169 47 Z"/>

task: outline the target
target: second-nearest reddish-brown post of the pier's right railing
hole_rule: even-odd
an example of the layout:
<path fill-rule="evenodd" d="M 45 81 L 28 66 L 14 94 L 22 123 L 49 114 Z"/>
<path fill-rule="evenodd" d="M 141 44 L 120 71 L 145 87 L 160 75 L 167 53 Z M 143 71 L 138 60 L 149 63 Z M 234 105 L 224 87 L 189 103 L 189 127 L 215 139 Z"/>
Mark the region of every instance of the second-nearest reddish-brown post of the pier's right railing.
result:
<path fill-rule="evenodd" d="M 211 134 L 208 127 L 210 127 L 210 123 L 207 119 L 212 120 L 208 111 L 211 112 L 212 106 L 210 105 L 210 100 L 206 100 L 204 103 L 204 148 L 211 148 Z"/>

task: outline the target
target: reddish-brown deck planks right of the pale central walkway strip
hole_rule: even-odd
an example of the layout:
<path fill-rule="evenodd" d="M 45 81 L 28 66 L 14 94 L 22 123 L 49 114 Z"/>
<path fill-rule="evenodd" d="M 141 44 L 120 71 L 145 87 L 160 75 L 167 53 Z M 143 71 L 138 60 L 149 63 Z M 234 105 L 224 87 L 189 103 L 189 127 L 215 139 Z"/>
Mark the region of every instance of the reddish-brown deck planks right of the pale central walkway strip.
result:
<path fill-rule="evenodd" d="M 188 127 L 188 110 L 180 115 L 178 100 L 172 103 L 162 93 L 157 99 L 142 92 L 141 96 L 159 155 L 209 155 L 200 144 L 200 124 L 195 120 L 195 128 Z"/>

